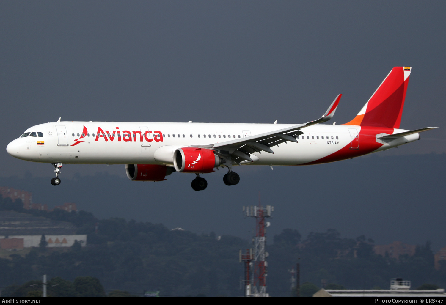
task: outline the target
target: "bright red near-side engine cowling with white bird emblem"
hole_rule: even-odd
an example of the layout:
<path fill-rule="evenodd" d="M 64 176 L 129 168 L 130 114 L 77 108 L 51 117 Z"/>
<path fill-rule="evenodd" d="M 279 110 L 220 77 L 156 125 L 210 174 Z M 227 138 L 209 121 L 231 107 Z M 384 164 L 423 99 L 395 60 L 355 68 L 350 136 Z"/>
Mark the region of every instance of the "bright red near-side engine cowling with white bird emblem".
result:
<path fill-rule="evenodd" d="M 211 149 L 183 147 L 173 152 L 173 165 L 180 173 L 211 173 L 220 164 L 220 157 Z"/>

